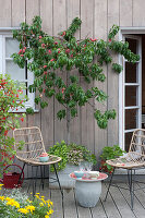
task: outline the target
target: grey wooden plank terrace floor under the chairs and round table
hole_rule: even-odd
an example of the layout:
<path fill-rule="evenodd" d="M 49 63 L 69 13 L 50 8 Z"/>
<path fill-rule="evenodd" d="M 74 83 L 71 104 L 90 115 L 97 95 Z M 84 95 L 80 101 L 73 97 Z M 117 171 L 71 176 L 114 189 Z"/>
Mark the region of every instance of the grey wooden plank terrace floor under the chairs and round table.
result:
<path fill-rule="evenodd" d="M 145 190 L 135 192 L 134 210 L 132 211 L 130 207 L 130 193 L 126 190 L 111 186 L 108 198 L 104 202 L 107 185 L 108 182 L 102 182 L 101 196 L 94 208 L 81 207 L 75 199 L 75 191 L 73 189 L 63 190 L 64 218 L 145 218 Z M 126 183 L 120 183 L 120 185 L 126 187 Z M 138 187 L 138 184 L 135 184 L 135 186 Z M 24 182 L 22 190 L 24 191 L 26 189 L 27 182 Z M 55 213 L 52 218 L 62 218 L 62 198 L 60 191 L 52 187 L 49 189 L 47 183 L 45 184 L 45 189 L 41 190 L 37 183 L 37 192 L 53 202 Z"/>

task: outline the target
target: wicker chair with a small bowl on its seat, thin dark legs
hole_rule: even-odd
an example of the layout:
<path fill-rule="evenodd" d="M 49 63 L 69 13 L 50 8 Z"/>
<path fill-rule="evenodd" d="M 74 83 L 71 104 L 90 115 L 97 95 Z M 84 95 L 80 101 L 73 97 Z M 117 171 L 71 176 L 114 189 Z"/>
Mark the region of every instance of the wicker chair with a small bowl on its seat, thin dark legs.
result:
<path fill-rule="evenodd" d="M 59 162 L 61 158 L 50 155 L 47 162 L 39 161 L 39 155 L 41 153 L 46 153 L 39 128 L 33 126 L 33 128 L 15 129 L 13 131 L 13 137 L 15 140 L 14 148 L 16 150 L 16 158 L 23 161 L 22 173 L 24 171 L 25 165 L 32 166 L 33 195 L 35 195 L 36 193 L 36 179 L 37 179 L 38 167 L 40 167 L 41 184 L 44 189 L 45 166 L 49 166 L 49 165 L 53 165 L 56 177 L 57 177 L 56 180 L 58 181 L 61 194 L 63 195 L 61 185 L 59 182 L 58 173 L 56 170 L 56 166 L 55 166 L 55 164 Z M 24 144 L 23 146 L 21 145 L 21 142 Z M 22 149 L 19 149 L 20 146 L 22 146 Z M 34 167 L 36 167 L 36 171 L 34 171 Z M 36 173 L 36 177 L 34 177 L 34 172 Z"/>

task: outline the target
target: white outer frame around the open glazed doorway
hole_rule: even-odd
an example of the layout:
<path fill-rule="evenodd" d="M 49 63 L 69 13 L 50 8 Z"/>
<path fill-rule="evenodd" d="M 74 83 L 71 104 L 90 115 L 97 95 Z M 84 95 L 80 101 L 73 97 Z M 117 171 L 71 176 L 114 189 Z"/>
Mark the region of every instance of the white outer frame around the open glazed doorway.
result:
<path fill-rule="evenodd" d="M 124 35 L 137 35 L 145 34 L 145 27 L 121 27 L 119 32 L 119 40 L 123 40 Z M 138 51 L 141 53 L 141 51 Z M 142 56 L 141 56 L 142 62 Z M 124 59 L 119 56 L 119 63 L 123 65 L 123 71 L 119 74 L 119 146 L 124 149 Z M 142 64 L 138 64 L 138 71 L 142 72 Z M 140 75 L 138 83 L 142 85 L 142 77 Z M 138 94 L 141 95 L 141 93 Z M 138 105 L 142 106 L 142 100 L 140 99 Z M 142 109 L 140 108 L 140 113 Z M 141 117 L 138 117 L 138 128 L 141 128 Z"/>

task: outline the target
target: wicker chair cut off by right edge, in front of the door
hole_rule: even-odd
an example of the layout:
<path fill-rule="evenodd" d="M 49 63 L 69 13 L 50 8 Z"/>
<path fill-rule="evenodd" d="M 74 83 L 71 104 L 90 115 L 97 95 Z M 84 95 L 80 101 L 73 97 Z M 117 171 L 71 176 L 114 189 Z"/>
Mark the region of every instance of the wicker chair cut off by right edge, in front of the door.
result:
<path fill-rule="evenodd" d="M 111 167 L 113 167 L 113 172 L 110 178 L 105 201 L 107 199 L 109 189 L 111 185 L 120 187 L 119 185 L 112 184 L 114 170 L 117 168 L 126 169 L 129 190 L 131 194 L 131 209 L 133 210 L 133 199 L 134 199 L 134 191 L 135 191 L 134 183 L 140 182 L 135 180 L 135 170 L 145 168 L 145 130 L 138 129 L 133 132 L 129 153 L 124 157 L 107 160 L 106 162 L 110 165 Z M 142 186 L 141 189 L 145 189 L 145 187 Z"/>

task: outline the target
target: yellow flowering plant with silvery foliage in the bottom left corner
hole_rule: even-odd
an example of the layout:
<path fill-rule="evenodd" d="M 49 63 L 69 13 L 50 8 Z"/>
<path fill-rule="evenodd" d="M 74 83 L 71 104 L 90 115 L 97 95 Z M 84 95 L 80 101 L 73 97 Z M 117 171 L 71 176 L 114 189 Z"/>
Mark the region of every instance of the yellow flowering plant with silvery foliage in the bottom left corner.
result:
<path fill-rule="evenodd" d="M 46 201 L 39 193 L 34 199 L 19 190 L 14 190 L 9 197 L 0 196 L 0 215 L 4 218 L 49 218 L 52 213 L 52 202 Z"/>

